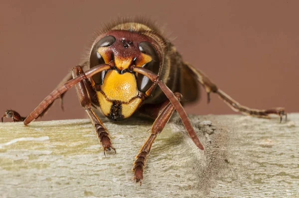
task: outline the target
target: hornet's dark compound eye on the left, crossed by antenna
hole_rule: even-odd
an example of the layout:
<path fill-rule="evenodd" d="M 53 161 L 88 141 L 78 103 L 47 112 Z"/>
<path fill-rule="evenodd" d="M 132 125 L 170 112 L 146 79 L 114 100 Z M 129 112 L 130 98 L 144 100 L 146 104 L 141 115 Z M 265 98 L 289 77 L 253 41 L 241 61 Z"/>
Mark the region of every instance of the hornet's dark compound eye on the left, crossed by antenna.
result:
<path fill-rule="evenodd" d="M 99 54 L 98 49 L 100 47 L 108 47 L 116 41 L 114 36 L 108 35 L 99 40 L 92 48 L 89 57 L 89 66 L 93 68 L 97 65 L 104 64 L 105 61 L 102 56 Z M 92 77 L 96 85 L 102 85 L 104 81 L 106 71 L 100 72 Z"/>

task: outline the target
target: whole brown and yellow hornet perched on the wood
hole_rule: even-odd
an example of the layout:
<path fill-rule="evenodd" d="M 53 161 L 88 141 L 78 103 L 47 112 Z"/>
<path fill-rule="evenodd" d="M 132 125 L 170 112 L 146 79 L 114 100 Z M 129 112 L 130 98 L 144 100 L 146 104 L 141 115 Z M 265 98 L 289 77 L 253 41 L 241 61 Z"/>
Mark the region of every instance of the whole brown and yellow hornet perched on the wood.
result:
<path fill-rule="evenodd" d="M 108 130 L 92 107 L 100 108 L 112 120 L 122 120 L 134 113 L 147 115 L 155 121 L 133 168 L 134 180 L 141 184 L 151 145 L 174 110 L 195 145 L 204 149 L 180 103 L 182 98 L 185 103 L 198 98 L 198 83 L 205 88 L 208 101 L 210 93 L 215 93 L 235 111 L 267 118 L 269 114 L 277 114 L 281 119 L 286 115 L 284 108 L 258 110 L 240 105 L 201 71 L 184 62 L 175 47 L 155 27 L 141 21 L 122 21 L 102 30 L 92 44 L 89 60 L 74 67 L 72 73 L 27 117 L 7 110 L 1 119 L 12 117 L 13 121 L 23 121 L 27 125 L 41 117 L 55 99 L 62 99 L 65 92 L 75 86 L 105 154 L 106 150 L 115 151 L 115 148 Z"/>

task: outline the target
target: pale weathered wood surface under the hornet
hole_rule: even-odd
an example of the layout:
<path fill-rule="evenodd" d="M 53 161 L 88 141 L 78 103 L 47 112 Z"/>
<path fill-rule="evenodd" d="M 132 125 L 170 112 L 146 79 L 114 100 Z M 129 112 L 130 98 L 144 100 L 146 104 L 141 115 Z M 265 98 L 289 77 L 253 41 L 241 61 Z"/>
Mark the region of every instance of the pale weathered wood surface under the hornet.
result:
<path fill-rule="evenodd" d="M 87 119 L 0 123 L 0 197 L 299 197 L 298 113 L 282 123 L 190 118 L 205 150 L 173 118 L 152 147 L 142 186 L 132 181 L 132 164 L 149 121 L 105 120 L 117 150 L 107 157 Z"/>

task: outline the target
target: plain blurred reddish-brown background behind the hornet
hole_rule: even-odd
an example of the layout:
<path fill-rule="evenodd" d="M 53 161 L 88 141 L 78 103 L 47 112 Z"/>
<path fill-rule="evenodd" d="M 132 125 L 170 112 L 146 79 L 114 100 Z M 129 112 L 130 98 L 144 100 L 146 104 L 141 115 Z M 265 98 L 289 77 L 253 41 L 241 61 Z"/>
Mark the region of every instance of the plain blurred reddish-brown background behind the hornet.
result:
<path fill-rule="evenodd" d="M 78 64 L 102 22 L 136 15 L 156 20 L 185 60 L 241 104 L 298 112 L 298 10 L 298 0 L 1 0 L 0 112 L 27 115 Z M 43 119 L 86 117 L 75 89 L 64 107 Z M 215 95 L 207 105 L 205 94 L 186 109 L 234 113 Z"/>

